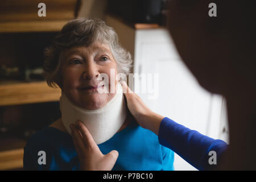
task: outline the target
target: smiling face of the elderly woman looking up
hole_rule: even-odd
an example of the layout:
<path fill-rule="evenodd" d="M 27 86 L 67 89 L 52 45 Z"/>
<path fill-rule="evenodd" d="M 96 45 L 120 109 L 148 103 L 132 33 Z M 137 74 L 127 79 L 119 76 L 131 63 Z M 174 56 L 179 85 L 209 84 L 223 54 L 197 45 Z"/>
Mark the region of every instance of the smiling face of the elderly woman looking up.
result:
<path fill-rule="evenodd" d="M 114 97 L 113 88 L 117 80 L 110 82 L 110 71 L 114 71 L 115 78 L 117 65 L 108 45 L 95 42 L 88 47 L 72 47 L 61 52 L 60 59 L 63 61 L 62 89 L 74 104 L 90 110 L 100 109 Z M 108 85 L 103 84 L 106 82 L 105 78 L 101 77 L 103 73 L 109 78 Z M 108 93 L 97 90 L 106 89 L 107 86 Z"/>

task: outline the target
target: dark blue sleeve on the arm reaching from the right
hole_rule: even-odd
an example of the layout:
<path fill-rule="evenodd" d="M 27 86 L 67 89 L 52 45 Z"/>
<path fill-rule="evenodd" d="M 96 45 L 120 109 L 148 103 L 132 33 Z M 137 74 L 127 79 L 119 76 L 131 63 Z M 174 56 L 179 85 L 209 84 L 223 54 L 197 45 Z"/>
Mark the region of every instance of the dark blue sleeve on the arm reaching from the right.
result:
<path fill-rule="evenodd" d="M 207 137 L 195 130 L 165 117 L 160 123 L 159 143 L 171 148 L 189 164 L 199 170 L 215 169 L 220 164 L 221 156 L 228 147 L 224 141 Z M 209 164 L 209 151 L 216 152 L 217 164 Z"/>

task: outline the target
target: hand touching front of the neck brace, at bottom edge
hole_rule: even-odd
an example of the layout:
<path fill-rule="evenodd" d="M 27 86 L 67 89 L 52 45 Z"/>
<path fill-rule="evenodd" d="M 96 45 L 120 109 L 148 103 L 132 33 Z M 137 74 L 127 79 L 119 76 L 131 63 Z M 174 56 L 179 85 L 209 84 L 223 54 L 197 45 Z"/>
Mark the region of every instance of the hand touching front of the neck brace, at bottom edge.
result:
<path fill-rule="evenodd" d="M 80 170 L 109 171 L 114 167 L 118 158 L 118 152 L 113 150 L 109 154 L 102 154 L 100 148 L 94 142 L 92 135 L 84 123 L 78 121 L 71 124 L 71 136 L 75 144 L 80 161 Z"/>

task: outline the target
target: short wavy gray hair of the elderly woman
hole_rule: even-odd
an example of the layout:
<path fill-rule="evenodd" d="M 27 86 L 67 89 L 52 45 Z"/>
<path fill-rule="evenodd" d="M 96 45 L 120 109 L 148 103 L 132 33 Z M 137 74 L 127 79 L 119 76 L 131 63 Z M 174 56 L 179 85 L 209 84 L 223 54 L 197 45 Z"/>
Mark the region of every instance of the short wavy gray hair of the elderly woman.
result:
<path fill-rule="evenodd" d="M 50 47 L 44 50 L 44 77 L 51 87 L 62 86 L 60 53 L 75 46 L 90 46 L 100 41 L 112 51 L 117 72 L 127 75 L 130 72 L 131 55 L 118 42 L 117 33 L 101 19 L 77 18 L 70 20 L 55 37 Z"/>

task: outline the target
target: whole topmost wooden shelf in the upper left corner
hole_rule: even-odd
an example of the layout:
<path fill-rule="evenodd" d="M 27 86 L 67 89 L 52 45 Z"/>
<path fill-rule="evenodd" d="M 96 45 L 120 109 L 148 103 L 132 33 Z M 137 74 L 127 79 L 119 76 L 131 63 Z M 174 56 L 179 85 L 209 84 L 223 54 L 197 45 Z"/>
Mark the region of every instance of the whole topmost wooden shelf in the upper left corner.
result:
<path fill-rule="evenodd" d="M 76 17 L 79 0 L 44 0 L 46 16 L 38 16 L 40 1 L 2 0 L 0 6 L 0 32 L 53 32 Z"/>

